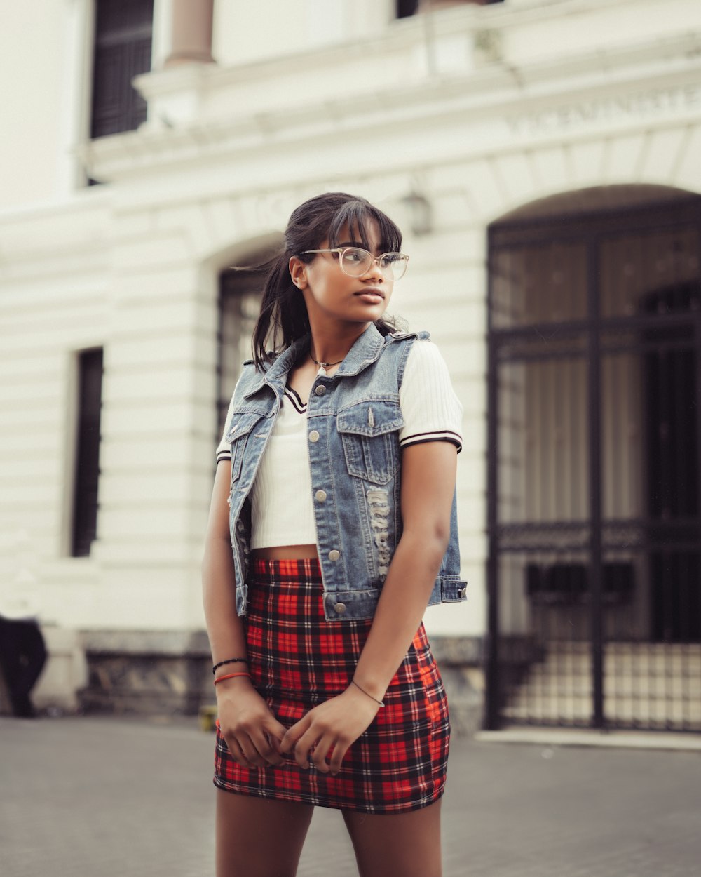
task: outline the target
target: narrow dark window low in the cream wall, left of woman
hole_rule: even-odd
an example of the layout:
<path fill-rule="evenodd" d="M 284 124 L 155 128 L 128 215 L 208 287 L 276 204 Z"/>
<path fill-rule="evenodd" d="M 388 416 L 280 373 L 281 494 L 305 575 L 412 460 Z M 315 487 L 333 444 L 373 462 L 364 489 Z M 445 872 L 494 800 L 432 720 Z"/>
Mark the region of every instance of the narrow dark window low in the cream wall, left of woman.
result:
<path fill-rule="evenodd" d="M 102 348 L 78 354 L 78 423 L 73 490 L 71 555 L 88 557 L 97 534 L 100 474 L 100 409 L 103 403 Z"/>

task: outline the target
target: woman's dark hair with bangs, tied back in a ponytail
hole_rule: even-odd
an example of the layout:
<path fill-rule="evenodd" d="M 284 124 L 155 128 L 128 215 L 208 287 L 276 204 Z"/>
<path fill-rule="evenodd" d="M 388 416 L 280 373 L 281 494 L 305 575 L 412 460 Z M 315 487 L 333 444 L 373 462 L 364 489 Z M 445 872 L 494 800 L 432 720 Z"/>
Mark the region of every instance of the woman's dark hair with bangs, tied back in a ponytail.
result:
<path fill-rule="evenodd" d="M 352 239 L 370 250 L 368 231 L 372 224 L 379 229 L 380 249 L 385 253 L 399 252 L 399 228 L 365 198 L 344 192 L 327 192 L 310 198 L 293 210 L 287 223 L 283 250 L 269 263 L 260 316 L 253 330 L 253 359 L 258 370 L 272 358 L 266 353 L 266 342 L 272 342 L 273 352 L 278 353 L 310 331 L 307 305 L 290 277 L 290 257 L 297 256 L 303 262 L 310 262 L 314 255 L 305 255 L 304 251 L 318 249 L 325 239 L 329 241 L 329 248 L 338 246 L 343 227 L 348 229 Z M 375 325 L 383 335 L 394 329 L 392 320 L 385 317 L 376 320 Z"/>

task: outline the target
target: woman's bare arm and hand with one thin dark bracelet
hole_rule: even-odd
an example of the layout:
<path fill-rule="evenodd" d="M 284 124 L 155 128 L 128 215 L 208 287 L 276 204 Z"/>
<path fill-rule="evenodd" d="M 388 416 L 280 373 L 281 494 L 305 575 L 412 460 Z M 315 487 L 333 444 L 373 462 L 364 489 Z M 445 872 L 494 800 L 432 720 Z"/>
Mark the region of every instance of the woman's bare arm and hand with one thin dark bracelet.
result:
<path fill-rule="evenodd" d="M 448 546 L 456 470 L 457 448 L 450 442 L 427 442 L 403 450 L 403 530 L 354 675 L 364 690 L 350 685 L 342 695 L 311 709 L 287 731 L 281 749 L 294 751 L 300 766 L 307 766 L 311 758 L 322 773 L 330 770 L 336 774 L 350 744 L 375 717 L 379 701 L 419 629 Z M 327 763 L 332 746 L 334 752 Z"/>

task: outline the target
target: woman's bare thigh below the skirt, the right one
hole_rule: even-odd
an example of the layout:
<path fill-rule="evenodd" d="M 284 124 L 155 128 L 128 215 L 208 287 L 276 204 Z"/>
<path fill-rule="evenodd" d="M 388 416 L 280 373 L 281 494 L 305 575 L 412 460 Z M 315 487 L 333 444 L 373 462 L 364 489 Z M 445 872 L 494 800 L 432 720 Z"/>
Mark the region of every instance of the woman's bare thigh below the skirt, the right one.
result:
<path fill-rule="evenodd" d="M 343 810 L 360 877 L 441 877 L 441 799 L 408 813 Z"/>

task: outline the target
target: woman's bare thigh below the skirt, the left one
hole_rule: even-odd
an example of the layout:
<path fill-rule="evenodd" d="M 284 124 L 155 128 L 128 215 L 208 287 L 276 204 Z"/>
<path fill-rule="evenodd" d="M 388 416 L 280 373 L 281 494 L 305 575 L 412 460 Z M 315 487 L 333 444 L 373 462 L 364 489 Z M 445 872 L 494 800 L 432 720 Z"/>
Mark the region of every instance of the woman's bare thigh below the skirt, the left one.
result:
<path fill-rule="evenodd" d="M 216 791 L 216 877 L 294 877 L 314 807 Z"/>

